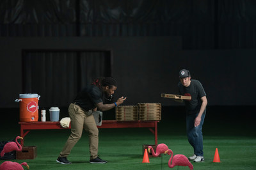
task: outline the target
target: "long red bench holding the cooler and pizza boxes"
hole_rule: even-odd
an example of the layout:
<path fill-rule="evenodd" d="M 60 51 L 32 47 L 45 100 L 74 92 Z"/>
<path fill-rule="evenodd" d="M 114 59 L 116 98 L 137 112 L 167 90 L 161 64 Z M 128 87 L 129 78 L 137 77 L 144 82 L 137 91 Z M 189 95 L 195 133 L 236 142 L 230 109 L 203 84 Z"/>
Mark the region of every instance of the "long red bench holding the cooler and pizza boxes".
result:
<path fill-rule="evenodd" d="M 157 123 L 159 121 L 116 121 L 116 120 L 103 120 L 102 125 L 98 128 L 148 128 L 150 132 L 155 135 L 155 144 L 157 145 Z M 20 136 L 23 140 L 20 140 L 20 144 L 24 146 L 24 137 L 30 132 L 30 130 L 38 129 L 67 129 L 60 125 L 60 121 L 31 121 L 31 122 L 19 122 L 20 124 Z M 69 127 L 70 128 L 70 127 Z M 154 129 L 153 129 L 154 128 Z"/>

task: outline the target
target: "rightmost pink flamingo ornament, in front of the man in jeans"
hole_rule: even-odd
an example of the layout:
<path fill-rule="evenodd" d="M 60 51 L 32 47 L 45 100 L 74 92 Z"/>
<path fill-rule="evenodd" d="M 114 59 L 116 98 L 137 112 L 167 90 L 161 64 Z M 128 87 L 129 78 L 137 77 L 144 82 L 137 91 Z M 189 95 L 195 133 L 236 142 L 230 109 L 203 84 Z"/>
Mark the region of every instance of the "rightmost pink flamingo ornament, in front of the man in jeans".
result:
<path fill-rule="evenodd" d="M 177 154 L 174 155 L 173 157 L 173 152 L 171 150 L 172 156 L 168 161 L 168 166 L 170 168 L 173 168 L 175 166 L 188 166 L 190 170 L 192 170 L 194 167 L 193 165 L 189 162 L 188 158 L 185 157 L 185 155 Z M 171 164 L 172 161 L 172 164 Z"/>

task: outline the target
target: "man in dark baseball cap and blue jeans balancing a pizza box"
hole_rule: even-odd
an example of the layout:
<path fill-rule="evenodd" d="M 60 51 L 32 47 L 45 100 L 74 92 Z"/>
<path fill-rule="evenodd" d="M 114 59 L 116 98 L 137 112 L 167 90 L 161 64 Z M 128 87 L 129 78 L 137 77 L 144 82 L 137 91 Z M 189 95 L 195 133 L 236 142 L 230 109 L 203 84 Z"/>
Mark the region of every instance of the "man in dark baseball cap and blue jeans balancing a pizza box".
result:
<path fill-rule="evenodd" d="M 185 100 L 186 131 L 189 144 L 194 148 L 194 154 L 189 159 L 194 162 L 204 162 L 202 127 L 206 114 L 206 94 L 202 84 L 191 79 L 189 70 L 180 70 L 179 78 L 180 95 L 191 96 L 191 100 Z"/>

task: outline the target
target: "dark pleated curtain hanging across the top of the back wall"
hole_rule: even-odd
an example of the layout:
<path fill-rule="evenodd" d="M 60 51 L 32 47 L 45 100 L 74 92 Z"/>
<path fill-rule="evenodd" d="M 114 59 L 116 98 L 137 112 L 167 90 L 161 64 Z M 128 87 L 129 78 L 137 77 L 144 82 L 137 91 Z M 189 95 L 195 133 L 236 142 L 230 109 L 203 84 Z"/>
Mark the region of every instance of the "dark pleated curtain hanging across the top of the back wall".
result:
<path fill-rule="evenodd" d="M 0 36 L 182 36 L 183 49 L 256 47 L 254 0 L 2 0 Z"/>

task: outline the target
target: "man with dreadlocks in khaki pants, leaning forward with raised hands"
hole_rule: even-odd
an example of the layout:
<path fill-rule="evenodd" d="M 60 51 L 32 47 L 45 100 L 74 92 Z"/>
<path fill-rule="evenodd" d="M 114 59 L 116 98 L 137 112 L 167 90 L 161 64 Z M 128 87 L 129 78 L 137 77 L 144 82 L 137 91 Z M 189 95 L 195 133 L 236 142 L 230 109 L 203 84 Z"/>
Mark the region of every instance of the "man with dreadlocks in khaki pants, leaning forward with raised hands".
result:
<path fill-rule="evenodd" d="M 58 159 L 60 164 L 71 164 L 67 160 L 72 148 L 81 138 L 83 128 L 89 134 L 90 163 L 104 164 L 107 161 L 98 157 L 99 130 L 92 115 L 93 111 L 108 111 L 124 102 L 126 97 L 118 98 L 113 104 L 103 104 L 104 97 L 111 98 L 117 88 L 115 79 L 100 77 L 91 86 L 84 88 L 77 94 L 74 102 L 68 107 L 70 116 L 71 134 L 67 139 Z"/>

